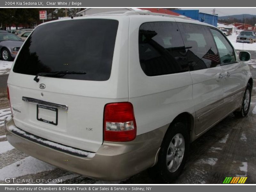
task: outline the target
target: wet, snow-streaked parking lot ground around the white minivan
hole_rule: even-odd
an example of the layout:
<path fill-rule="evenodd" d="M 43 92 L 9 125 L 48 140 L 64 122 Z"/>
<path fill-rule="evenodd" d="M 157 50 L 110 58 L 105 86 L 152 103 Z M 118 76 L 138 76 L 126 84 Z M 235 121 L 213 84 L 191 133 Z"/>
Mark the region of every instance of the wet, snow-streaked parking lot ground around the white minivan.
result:
<path fill-rule="evenodd" d="M 191 144 L 190 156 L 177 184 L 220 184 L 225 177 L 246 176 L 246 183 L 256 183 L 256 51 L 250 51 L 254 87 L 250 112 L 245 118 L 229 115 Z M 0 77 L 0 183 L 6 177 L 17 179 L 61 179 L 62 184 L 152 184 L 157 180 L 148 171 L 126 180 L 104 182 L 89 179 L 41 162 L 13 148 L 4 135 L 4 119 L 10 115 L 4 80 Z M 116 167 L 118 169 L 118 167 Z M 44 182 L 44 181 L 42 181 Z M 15 182 L 9 182 L 15 183 Z"/>

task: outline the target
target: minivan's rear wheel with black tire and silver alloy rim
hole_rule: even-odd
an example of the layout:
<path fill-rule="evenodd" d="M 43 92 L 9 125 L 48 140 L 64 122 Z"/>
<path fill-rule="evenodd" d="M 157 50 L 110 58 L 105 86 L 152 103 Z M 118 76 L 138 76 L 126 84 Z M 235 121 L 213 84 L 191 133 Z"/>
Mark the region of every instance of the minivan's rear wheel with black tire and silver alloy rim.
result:
<path fill-rule="evenodd" d="M 178 140 L 179 143 L 177 142 Z M 188 148 L 189 132 L 187 124 L 182 122 L 171 124 L 164 136 L 158 155 L 158 162 L 151 169 L 151 173 L 153 171 L 161 183 L 171 183 L 176 180 L 187 161 Z"/>

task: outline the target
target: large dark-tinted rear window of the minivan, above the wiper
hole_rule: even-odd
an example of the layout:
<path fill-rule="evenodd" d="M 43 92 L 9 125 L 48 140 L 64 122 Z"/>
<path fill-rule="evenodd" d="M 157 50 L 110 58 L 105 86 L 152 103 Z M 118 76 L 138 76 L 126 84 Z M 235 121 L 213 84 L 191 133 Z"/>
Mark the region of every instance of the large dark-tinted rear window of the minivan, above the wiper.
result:
<path fill-rule="evenodd" d="M 52 71 L 86 74 L 58 78 L 106 81 L 110 77 L 117 20 L 81 19 L 37 27 L 24 43 L 13 72 L 36 75 Z"/>

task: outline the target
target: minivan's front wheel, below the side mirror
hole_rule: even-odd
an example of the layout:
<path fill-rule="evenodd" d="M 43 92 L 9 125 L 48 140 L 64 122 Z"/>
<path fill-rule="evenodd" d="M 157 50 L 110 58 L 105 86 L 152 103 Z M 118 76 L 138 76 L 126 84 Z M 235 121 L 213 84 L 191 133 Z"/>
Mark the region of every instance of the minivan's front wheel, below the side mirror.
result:
<path fill-rule="evenodd" d="M 252 87 L 248 83 L 246 86 L 246 89 L 244 91 L 244 96 L 242 100 L 242 107 L 240 111 L 235 111 L 234 115 L 237 117 L 245 117 L 250 109 L 250 104 L 251 104 L 251 94 L 252 94 Z"/>

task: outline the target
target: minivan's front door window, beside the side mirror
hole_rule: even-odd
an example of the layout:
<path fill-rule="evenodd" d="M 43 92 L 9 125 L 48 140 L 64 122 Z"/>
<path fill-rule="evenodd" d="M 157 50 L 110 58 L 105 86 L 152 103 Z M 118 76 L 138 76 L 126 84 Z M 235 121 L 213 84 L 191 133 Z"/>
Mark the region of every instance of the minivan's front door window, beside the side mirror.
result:
<path fill-rule="evenodd" d="M 232 63 L 236 61 L 235 53 L 226 38 L 217 30 L 210 29 L 220 54 L 220 63 Z"/>

